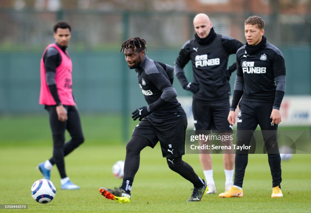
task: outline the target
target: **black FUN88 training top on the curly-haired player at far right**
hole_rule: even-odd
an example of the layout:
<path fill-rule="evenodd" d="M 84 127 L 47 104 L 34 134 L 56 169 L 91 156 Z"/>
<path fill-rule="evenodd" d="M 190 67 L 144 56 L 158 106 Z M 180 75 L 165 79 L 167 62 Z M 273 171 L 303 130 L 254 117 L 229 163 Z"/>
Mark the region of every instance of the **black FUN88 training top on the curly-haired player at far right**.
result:
<path fill-rule="evenodd" d="M 255 102 L 275 102 L 275 99 L 280 98 L 282 100 L 286 69 L 284 57 L 278 48 L 263 37 L 257 46 L 246 44 L 241 47 L 236 59 L 238 83 L 244 85 L 243 99 Z M 234 90 L 241 88 L 235 85 Z M 277 97 L 279 95 L 281 97 Z M 273 106 L 279 107 L 281 100 Z"/>

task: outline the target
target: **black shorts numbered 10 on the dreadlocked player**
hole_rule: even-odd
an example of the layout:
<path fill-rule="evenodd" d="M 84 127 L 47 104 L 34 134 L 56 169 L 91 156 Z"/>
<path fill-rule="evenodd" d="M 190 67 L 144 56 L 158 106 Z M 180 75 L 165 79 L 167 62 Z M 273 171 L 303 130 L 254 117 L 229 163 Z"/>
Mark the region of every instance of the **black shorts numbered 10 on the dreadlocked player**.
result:
<path fill-rule="evenodd" d="M 147 138 L 151 142 L 151 148 L 160 141 L 163 157 L 178 157 L 185 154 L 187 125 L 187 117 L 160 123 L 143 119 L 132 135 Z"/>

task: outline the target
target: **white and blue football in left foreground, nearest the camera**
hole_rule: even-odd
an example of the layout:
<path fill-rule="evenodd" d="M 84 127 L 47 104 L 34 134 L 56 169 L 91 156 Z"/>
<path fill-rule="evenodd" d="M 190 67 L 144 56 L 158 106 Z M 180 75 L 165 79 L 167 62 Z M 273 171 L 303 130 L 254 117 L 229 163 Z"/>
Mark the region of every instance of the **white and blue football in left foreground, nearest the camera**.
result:
<path fill-rule="evenodd" d="M 53 200 L 56 194 L 54 184 L 47 179 L 37 180 L 31 187 L 32 198 L 38 203 L 49 203 Z"/>

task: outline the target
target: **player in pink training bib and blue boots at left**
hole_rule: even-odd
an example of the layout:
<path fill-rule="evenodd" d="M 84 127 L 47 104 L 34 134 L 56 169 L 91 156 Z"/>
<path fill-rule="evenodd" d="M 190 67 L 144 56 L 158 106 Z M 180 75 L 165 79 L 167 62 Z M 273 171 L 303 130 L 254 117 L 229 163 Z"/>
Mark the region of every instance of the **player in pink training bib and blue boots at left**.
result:
<path fill-rule="evenodd" d="M 59 21 L 54 26 L 55 43 L 49 44 L 40 62 L 41 88 L 39 104 L 49 112 L 53 136 L 53 156 L 38 169 L 45 179 L 56 164 L 61 176 L 62 189 L 79 189 L 66 174 L 64 157 L 84 141 L 79 112 L 72 95 L 72 61 L 67 52 L 71 38 L 71 26 Z M 65 143 L 65 130 L 71 139 Z"/>

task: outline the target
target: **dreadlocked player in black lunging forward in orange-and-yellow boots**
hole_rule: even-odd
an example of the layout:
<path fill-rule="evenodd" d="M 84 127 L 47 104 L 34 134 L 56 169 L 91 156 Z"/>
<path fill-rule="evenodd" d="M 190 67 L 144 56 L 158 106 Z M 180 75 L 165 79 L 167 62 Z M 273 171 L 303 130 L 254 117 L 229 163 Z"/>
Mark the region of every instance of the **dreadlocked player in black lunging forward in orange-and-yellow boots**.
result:
<path fill-rule="evenodd" d="M 126 146 L 122 185 L 114 189 L 100 188 L 100 193 L 110 200 L 130 202 L 140 152 L 147 146 L 154 148 L 160 141 L 162 155 L 169 168 L 193 184 L 192 195 L 187 201 L 200 201 L 207 191 L 207 184 L 182 160 L 185 154 L 187 117 L 176 99 L 177 93 L 171 83 L 174 68 L 151 60 L 146 56 L 145 49 L 146 41 L 139 37 L 128 39 L 121 45 L 129 68 L 135 69 L 137 73 L 139 87 L 148 105 L 132 112 L 133 120 L 139 119 L 140 123 Z"/>

